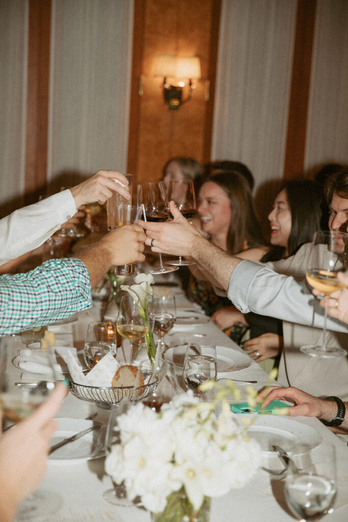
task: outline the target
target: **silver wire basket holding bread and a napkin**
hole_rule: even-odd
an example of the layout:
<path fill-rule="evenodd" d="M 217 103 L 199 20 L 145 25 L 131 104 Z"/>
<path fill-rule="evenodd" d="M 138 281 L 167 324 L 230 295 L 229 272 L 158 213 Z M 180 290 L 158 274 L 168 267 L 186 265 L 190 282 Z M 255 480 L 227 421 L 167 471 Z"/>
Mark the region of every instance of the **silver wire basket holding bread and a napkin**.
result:
<path fill-rule="evenodd" d="M 141 400 L 152 394 L 158 384 L 158 377 L 153 377 L 151 383 L 143 384 L 137 389 L 135 400 Z M 109 409 L 115 406 L 123 398 L 132 400 L 135 395 L 133 386 L 124 386 L 120 388 L 107 388 L 98 386 L 86 386 L 85 384 L 77 384 L 71 381 L 70 391 L 75 397 L 88 402 L 95 402 L 100 408 Z"/>

